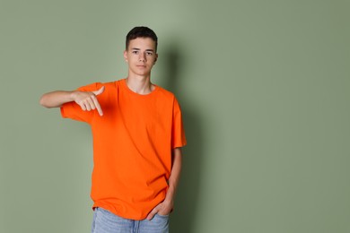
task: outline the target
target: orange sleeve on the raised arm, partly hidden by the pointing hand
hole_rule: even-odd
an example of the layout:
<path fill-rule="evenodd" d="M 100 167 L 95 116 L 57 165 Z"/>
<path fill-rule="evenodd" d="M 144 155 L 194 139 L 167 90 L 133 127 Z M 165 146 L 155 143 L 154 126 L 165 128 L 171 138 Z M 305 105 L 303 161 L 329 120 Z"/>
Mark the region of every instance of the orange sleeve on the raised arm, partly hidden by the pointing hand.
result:
<path fill-rule="evenodd" d="M 95 82 L 77 89 L 77 91 L 97 91 L 101 88 L 100 82 Z M 61 116 L 64 118 L 71 118 L 77 121 L 91 123 L 96 110 L 84 111 L 77 103 L 68 102 L 61 107 Z"/>

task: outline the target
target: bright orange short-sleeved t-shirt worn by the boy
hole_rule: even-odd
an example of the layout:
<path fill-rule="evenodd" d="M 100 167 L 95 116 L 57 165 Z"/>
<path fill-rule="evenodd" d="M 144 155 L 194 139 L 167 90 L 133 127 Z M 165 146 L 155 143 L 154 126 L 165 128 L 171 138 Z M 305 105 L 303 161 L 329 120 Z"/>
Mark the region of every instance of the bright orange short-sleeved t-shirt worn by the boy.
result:
<path fill-rule="evenodd" d="M 83 111 L 75 102 L 61 114 L 92 126 L 93 207 L 120 217 L 144 220 L 165 198 L 171 175 L 171 149 L 186 144 L 175 96 L 155 86 L 147 95 L 127 87 L 125 79 L 96 82 L 79 91 L 105 91 L 97 96 L 103 110 Z"/>

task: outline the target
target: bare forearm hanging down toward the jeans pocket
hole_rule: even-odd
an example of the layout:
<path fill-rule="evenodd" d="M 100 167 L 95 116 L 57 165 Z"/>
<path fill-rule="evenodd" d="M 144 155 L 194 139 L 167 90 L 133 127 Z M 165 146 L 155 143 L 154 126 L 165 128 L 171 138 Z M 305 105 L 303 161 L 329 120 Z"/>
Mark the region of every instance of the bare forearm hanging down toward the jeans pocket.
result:
<path fill-rule="evenodd" d="M 172 154 L 171 177 L 169 177 L 169 188 L 165 197 L 165 202 L 174 202 L 176 190 L 179 185 L 179 177 L 182 167 L 182 151 L 180 148 L 175 148 Z"/>

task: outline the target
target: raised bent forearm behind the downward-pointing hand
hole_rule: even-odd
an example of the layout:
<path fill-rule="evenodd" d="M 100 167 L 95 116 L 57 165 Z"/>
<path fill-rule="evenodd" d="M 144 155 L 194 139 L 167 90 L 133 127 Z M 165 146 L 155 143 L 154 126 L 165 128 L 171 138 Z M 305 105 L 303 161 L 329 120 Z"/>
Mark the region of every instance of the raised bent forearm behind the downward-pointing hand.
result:
<path fill-rule="evenodd" d="M 71 101 L 74 101 L 74 91 L 52 91 L 43 94 L 39 103 L 46 108 L 59 108 Z"/>

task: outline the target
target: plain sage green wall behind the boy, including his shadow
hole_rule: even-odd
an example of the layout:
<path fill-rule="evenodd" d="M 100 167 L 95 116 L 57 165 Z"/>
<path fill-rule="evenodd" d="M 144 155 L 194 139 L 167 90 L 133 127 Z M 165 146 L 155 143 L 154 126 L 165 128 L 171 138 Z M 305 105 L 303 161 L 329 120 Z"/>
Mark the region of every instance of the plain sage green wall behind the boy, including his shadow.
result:
<path fill-rule="evenodd" d="M 0 232 L 90 232 L 90 128 L 39 97 L 125 78 L 136 25 L 158 34 L 153 82 L 188 136 L 171 232 L 350 232 L 349 10 L 1 0 Z"/>

